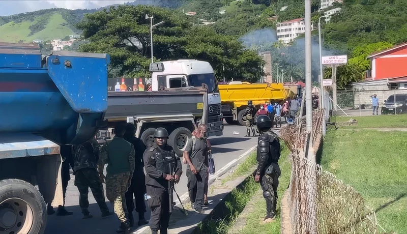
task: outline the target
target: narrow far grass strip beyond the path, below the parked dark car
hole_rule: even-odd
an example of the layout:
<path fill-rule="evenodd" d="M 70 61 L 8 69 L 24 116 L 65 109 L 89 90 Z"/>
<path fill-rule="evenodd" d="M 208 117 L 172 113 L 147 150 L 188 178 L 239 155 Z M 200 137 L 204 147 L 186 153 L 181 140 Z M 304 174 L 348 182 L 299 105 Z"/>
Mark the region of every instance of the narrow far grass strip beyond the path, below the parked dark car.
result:
<path fill-rule="evenodd" d="M 358 121 L 358 125 L 340 128 L 407 128 L 407 115 L 333 116 L 331 122 Z"/>

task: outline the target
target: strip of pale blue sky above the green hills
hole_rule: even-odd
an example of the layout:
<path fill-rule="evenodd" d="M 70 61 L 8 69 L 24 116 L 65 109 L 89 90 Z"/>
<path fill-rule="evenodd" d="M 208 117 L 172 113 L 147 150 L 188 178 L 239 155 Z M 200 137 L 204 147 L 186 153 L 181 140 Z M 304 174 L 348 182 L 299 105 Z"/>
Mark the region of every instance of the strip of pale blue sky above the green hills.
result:
<path fill-rule="evenodd" d="M 94 9 L 112 4 L 124 4 L 129 0 L 0 0 L 0 16 L 38 11 L 50 8 Z"/>

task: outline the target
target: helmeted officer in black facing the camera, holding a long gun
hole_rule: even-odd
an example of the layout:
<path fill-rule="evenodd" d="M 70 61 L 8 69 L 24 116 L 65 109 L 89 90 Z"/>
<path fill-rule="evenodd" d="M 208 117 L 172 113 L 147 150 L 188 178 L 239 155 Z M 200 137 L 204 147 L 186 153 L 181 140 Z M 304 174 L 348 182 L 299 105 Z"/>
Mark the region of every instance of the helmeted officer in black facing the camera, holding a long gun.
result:
<path fill-rule="evenodd" d="M 172 147 L 167 145 L 167 139 L 167 130 L 157 128 L 154 132 L 155 143 L 143 155 L 152 234 L 158 233 L 158 230 L 161 234 L 167 234 L 169 206 L 172 206 L 168 182 L 178 183 L 182 174 L 181 160 Z"/>

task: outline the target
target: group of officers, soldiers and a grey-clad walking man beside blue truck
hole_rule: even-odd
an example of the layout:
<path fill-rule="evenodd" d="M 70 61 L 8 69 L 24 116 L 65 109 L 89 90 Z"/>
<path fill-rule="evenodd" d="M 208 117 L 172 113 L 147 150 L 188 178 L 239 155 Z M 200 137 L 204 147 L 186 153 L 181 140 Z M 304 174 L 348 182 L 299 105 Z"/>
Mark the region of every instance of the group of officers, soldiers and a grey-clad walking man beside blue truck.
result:
<path fill-rule="evenodd" d="M 136 128 L 133 124 L 119 123 L 114 130 L 114 138 L 101 147 L 96 138 L 81 145 L 61 147 L 64 205 L 71 167 L 75 176 L 74 185 L 79 191 L 83 219 L 93 217 L 88 209 L 90 188 L 101 216 L 118 216 L 120 226 L 117 232 L 129 233 L 129 228 L 134 227 L 135 209 L 139 226 L 150 223 L 153 234 L 158 231 L 167 233 L 172 206 L 175 204 L 171 188 L 180 181 L 183 173 L 180 156 L 167 144 L 167 130 L 157 128 L 154 133 L 155 143 L 149 148 L 135 137 Z M 192 133 L 193 140 L 188 141 L 183 154 L 183 162 L 187 164 L 191 207 L 197 213 L 203 213 L 204 207 L 208 206 L 208 154 L 211 146 L 207 132 L 206 125 L 198 125 Z M 107 207 L 102 183 L 106 184 L 106 197 L 113 204 L 114 213 Z M 147 212 L 145 199 L 151 210 L 149 221 L 144 217 Z M 48 215 L 55 213 L 50 204 L 47 204 L 47 210 Z M 73 212 L 59 206 L 56 215 L 73 215 Z"/>

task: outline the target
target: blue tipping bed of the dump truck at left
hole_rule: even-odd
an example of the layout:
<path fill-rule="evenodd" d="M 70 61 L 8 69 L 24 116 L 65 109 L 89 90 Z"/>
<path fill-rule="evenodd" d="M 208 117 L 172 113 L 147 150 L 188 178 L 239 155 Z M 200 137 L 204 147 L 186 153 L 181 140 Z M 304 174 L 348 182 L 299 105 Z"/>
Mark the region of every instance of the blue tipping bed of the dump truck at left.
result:
<path fill-rule="evenodd" d="M 42 57 L 38 44 L 0 43 L 0 134 L 36 134 L 58 144 L 89 140 L 107 110 L 108 64 L 107 54 Z"/>

